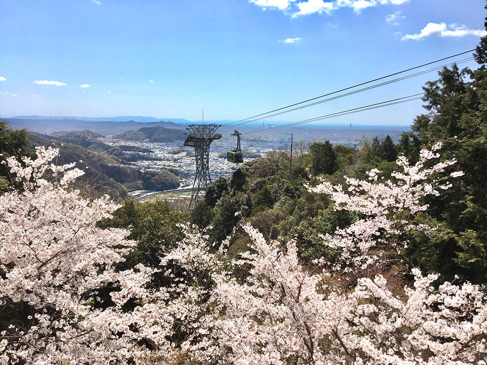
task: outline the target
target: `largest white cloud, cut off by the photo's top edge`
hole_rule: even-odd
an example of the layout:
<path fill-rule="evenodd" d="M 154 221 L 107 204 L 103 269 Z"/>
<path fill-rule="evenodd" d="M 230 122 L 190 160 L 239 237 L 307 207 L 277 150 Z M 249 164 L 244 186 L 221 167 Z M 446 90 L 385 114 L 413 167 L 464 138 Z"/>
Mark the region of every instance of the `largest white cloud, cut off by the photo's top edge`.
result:
<path fill-rule="evenodd" d="M 293 18 L 309 14 L 331 14 L 342 7 L 352 8 L 356 14 L 362 10 L 377 5 L 400 5 L 410 0 L 250 0 L 250 2 L 262 7 L 280 10 Z"/>

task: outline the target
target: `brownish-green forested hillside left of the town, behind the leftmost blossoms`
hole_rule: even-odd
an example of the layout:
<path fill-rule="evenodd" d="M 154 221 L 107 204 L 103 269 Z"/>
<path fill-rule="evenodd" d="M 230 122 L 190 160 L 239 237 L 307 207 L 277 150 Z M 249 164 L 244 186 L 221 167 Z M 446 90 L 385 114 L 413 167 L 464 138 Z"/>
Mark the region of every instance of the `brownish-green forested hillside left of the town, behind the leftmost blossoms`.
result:
<path fill-rule="evenodd" d="M 136 166 L 126 165 L 131 161 L 155 159 L 150 155 L 151 150 L 136 146 L 108 146 L 96 139 L 98 134 L 90 131 L 43 135 L 24 129 L 14 131 L 8 128 L 7 123 L 1 122 L 0 136 L 3 141 L 0 153 L 5 158 L 19 154 L 34 156 L 36 146 L 59 148 L 55 163 L 76 163 L 78 168 L 82 168 L 85 173 L 73 186 L 89 195 L 108 194 L 112 199 L 121 199 L 126 197 L 128 189 L 167 190 L 180 185 L 174 169 L 142 171 Z M 0 192 L 3 192 L 9 190 L 13 176 L 4 165 L 0 166 L 3 166 L 0 171 Z"/>

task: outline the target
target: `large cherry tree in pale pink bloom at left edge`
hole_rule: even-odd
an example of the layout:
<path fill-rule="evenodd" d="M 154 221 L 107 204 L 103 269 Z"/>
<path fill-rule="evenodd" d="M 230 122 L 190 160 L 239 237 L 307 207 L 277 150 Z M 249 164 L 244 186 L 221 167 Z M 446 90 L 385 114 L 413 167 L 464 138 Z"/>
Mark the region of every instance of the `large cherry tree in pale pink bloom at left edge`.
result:
<path fill-rule="evenodd" d="M 170 350 L 172 322 L 150 318 L 165 295 L 146 286 L 154 269 L 117 271 L 135 242 L 96 228 L 117 205 L 70 189 L 83 172 L 51 164 L 57 149 L 36 152 L 7 159 L 23 188 L 0 197 L 0 310 L 18 309 L 0 333 L 0 363 L 125 364 L 143 356 L 144 341 Z"/>

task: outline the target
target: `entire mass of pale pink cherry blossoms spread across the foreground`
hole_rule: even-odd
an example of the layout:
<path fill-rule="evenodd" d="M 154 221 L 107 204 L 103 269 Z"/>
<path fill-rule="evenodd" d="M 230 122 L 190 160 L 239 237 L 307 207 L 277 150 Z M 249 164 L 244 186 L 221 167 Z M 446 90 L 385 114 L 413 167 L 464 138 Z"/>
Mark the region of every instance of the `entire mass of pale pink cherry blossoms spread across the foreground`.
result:
<path fill-rule="evenodd" d="M 57 153 L 38 147 L 36 160 L 7 159 L 23 188 L 0 197 L 0 310 L 18 306 L 0 333 L 0 364 L 486 364 L 485 288 L 438 284 L 412 263 L 402 288 L 363 275 L 385 254 L 405 259 L 404 232 L 434 229 L 411 217 L 461 174 L 440 176 L 454 161 L 435 163 L 438 154 L 424 150 L 417 164 L 400 158 L 391 181 L 372 170 L 369 181 L 347 179 L 346 190 L 309 187 L 359 213 L 323 236 L 341 265 L 304 267 L 296 242 L 266 241 L 244 223 L 250 250 L 233 259 L 231 237 L 212 247 L 206 231 L 183 226 L 159 267 L 119 270 L 136 242 L 96 226 L 117 205 L 70 189 L 82 171 L 51 164 Z M 158 272 L 164 287 L 150 285 Z"/>

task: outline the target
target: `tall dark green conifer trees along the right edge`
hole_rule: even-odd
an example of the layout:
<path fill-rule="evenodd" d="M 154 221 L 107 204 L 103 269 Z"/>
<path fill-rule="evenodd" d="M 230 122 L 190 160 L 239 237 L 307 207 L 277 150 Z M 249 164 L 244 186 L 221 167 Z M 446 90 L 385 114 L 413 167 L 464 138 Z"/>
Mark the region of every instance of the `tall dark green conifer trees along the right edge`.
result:
<path fill-rule="evenodd" d="M 423 100 L 431 113 L 418 116 L 412 126 L 422 148 L 442 141 L 442 157 L 456 158 L 455 168 L 465 172 L 440 198 L 429 201 L 431 216 L 445 227 L 441 244 L 431 249 L 454 263 L 437 260 L 436 266 L 449 277 L 461 273 L 481 283 L 487 282 L 486 44 L 483 37 L 475 54 L 479 69 L 453 65 L 426 84 Z M 416 247 L 422 248 L 419 243 Z"/>

